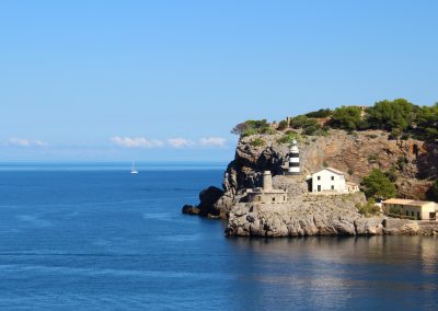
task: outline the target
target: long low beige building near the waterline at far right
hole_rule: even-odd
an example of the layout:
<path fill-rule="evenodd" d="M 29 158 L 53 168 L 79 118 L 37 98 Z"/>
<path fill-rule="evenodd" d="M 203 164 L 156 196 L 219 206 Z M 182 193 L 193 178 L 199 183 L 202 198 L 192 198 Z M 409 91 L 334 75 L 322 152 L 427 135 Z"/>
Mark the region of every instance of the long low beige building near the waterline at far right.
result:
<path fill-rule="evenodd" d="M 437 206 L 434 201 L 390 198 L 382 201 L 382 210 L 385 214 L 396 214 L 404 217 L 413 217 L 417 220 L 436 220 Z"/>

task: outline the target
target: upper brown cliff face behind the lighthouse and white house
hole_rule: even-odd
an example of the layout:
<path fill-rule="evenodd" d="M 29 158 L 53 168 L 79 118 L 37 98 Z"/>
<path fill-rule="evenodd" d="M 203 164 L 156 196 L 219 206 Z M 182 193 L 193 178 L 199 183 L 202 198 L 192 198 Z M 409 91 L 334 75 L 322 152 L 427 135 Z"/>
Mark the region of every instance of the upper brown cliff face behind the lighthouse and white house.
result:
<path fill-rule="evenodd" d="M 252 146 L 256 137 L 266 143 Z M 277 134 L 240 139 L 235 158 L 224 173 L 224 193 L 214 207 L 220 217 L 228 218 L 231 208 L 242 199 L 244 188 L 261 185 L 263 171 L 269 170 L 274 175 L 283 173 L 288 146 L 277 141 L 280 137 Z M 332 129 L 328 136 L 303 139 L 299 147 L 303 176 L 323 166 L 333 166 L 349 173 L 349 181 L 359 183 L 372 169 L 393 168 L 399 175 L 400 197 L 424 199 L 431 180 L 438 176 L 438 146 L 414 139 L 390 140 L 388 133 L 381 130 L 349 135 Z"/>

